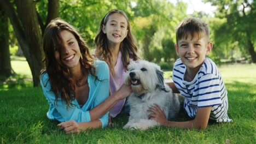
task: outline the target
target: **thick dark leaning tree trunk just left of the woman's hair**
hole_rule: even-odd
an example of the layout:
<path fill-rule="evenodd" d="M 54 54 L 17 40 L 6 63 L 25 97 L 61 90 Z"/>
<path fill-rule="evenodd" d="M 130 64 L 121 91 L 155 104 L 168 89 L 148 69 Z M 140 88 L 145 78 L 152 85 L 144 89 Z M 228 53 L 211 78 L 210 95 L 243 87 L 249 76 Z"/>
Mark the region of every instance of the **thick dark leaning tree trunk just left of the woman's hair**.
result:
<path fill-rule="evenodd" d="M 36 5 L 31 0 L 16 0 L 18 16 L 24 28 L 24 34 L 28 45 L 27 51 L 23 51 L 30 65 L 34 87 L 40 83 L 40 70 L 43 68 L 43 42 L 38 23 Z"/>

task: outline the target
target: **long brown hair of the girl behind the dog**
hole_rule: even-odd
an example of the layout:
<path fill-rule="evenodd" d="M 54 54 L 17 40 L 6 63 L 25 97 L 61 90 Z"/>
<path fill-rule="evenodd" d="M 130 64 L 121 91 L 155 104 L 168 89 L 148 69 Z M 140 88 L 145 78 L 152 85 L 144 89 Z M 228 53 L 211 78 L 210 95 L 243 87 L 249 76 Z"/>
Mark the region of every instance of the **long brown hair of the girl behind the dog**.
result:
<path fill-rule="evenodd" d="M 131 33 L 130 24 L 128 17 L 122 10 L 110 10 L 101 20 L 101 26 L 98 30 L 98 34 L 95 38 L 95 45 L 96 45 L 96 51 L 95 55 L 98 59 L 105 61 L 108 64 L 110 72 L 114 75 L 114 64 L 111 62 L 112 53 L 109 50 L 109 44 L 108 44 L 108 38 L 107 34 L 104 34 L 102 31 L 103 25 L 106 26 L 106 23 L 108 21 L 108 17 L 114 13 L 119 13 L 125 17 L 127 20 L 127 36 L 126 38 L 121 42 L 120 44 L 120 51 L 122 54 L 122 61 L 125 69 L 127 70 L 127 65 L 130 63 L 129 59 L 132 58 L 134 61 L 138 59 L 136 52 L 137 52 L 137 43 L 136 39 Z"/>

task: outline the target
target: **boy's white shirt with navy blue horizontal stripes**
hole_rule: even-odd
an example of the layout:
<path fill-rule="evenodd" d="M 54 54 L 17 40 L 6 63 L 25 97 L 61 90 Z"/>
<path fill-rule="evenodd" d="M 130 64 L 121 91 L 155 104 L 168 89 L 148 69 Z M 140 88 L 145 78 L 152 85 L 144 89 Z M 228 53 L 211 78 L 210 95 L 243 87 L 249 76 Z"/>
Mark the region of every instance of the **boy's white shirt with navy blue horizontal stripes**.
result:
<path fill-rule="evenodd" d="M 181 59 L 174 63 L 172 79 L 184 95 L 184 109 L 190 117 L 195 117 L 197 107 L 212 106 L 210 119 L 217 122 L 232 122 L 228 117 L 228 92 L 216 64 L 208 57 L 193 81 L 184 81 L 186 71 Z"/>

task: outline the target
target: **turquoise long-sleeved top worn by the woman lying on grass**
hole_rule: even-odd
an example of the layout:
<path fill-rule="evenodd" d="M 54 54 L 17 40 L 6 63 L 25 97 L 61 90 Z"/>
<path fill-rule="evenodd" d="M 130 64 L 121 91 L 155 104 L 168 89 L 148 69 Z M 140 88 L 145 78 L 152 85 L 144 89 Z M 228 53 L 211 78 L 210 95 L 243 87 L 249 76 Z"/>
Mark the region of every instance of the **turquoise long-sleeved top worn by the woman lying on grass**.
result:
<path fill-rule="evenodd" d="M 61 100 L 59 93 L 59 98 L 57 99 L 57 105 L 55 103 L 55 94 L 51 91 L 51 83 L 49 81 L 49 76 L 47 73 L 43 74 L 40 79 L 40 83 L 44 92 L 48 104 L 50 105 L 48 111 L 48 118 L 52 120 L 57 120 L 60 122 L 71 121 L 75 122 L 90 122 L 89 110 L 102 103 L 108 97 L 109 88 L 109 68 L 106 62 L 94 61 L 96 75 L 98 81 L 95 81 L 95 77 L 91 74 L 88 75 L 89 84 L 89 98 L 82 108 L 80 108 L 77 100 L 72 101 L 72 104 L 67 107 L 66 102 Z M 102 123 L 102 128 L 106 127 L 108 124 L 108 112 L 99 118 Z"/>

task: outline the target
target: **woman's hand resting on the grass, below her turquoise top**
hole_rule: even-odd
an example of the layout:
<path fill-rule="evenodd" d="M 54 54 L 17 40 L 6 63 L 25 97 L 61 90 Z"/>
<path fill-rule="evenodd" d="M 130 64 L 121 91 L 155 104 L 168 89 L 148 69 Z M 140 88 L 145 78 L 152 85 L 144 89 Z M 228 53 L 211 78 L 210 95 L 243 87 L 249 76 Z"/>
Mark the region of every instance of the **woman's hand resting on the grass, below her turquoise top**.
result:
<path fill-rule="evenodd" d="M 57 126 L 66 131 L 66 134 L 80 133 L 79 123 L 74 120 L 59 123 Z"/>

